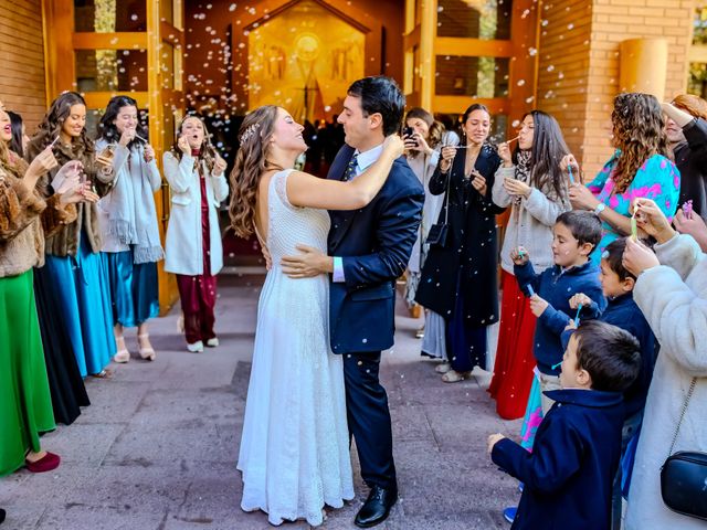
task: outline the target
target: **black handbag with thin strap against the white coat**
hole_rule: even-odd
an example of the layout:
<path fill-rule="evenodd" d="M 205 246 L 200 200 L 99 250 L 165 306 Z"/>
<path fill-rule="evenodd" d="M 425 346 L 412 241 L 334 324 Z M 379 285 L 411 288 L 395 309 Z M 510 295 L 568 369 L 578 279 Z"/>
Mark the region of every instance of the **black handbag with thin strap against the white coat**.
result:
<path fill-rule="evenodd" d="M 707 453 L 690 451 L 673 453 L 680 423 L 685 417 L 696 383 L 697 378 L 693 378 L 671 445 L 671 456 L 661 467 L 661 496 L 671 510 L 683 516 L 707 520 Z"/>

